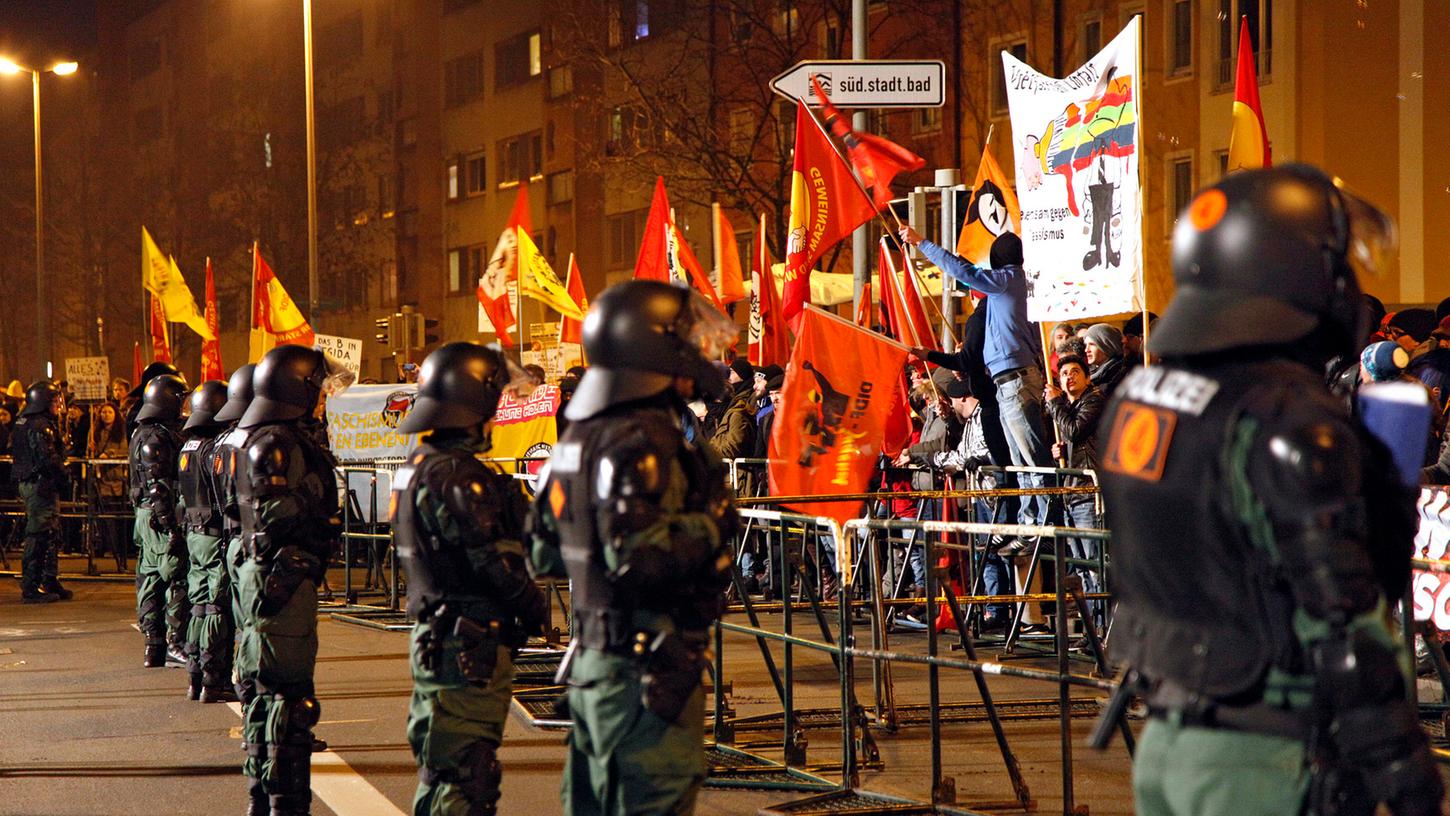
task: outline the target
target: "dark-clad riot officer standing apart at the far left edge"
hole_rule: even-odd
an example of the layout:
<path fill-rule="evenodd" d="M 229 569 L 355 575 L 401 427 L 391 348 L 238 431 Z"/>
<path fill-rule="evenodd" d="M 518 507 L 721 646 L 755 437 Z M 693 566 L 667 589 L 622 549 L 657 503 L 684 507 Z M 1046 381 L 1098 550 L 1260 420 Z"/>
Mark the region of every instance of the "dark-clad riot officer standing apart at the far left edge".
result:
<path fill-rule="evenodd" d="M 71 591 L 61 586 L 57 552 L 61 538 L 59 493 L 68 481 L 61 432 L 55 425 L 62 404 L 59 388 L 49 380 L 39 380 L 26 388 L 25 407 L 14 420 L 10 478 L 25 500 L 25 554 L 20 561 L 20 600 L 25 603 L 71 599 Z"/>

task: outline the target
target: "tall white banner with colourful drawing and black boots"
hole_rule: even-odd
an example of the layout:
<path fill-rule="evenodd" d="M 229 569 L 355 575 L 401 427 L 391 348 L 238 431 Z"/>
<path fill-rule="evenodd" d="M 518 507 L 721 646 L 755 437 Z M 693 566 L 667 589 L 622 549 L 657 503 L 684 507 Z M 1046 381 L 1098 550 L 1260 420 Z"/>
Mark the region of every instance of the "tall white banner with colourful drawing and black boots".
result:
<path fill-rule="evenodd" d="M 1141 309 L 1140 20 L 1061 80 L 1002 52 L 1031 320 Z"/>

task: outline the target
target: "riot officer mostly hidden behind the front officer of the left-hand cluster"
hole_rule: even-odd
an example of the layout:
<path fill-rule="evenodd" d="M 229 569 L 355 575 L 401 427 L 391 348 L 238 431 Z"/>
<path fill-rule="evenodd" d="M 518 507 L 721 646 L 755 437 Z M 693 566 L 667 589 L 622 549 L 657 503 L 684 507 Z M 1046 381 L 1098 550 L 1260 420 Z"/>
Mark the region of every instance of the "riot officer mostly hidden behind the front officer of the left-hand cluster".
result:
<path fill-rule="evenodd" d="M 238 428 L 238 420 L 246 413 L 246 406 L 252 404 L 252 370 L 255 364 L 248 362 L 232 372 L 226 380 L 226 404 L 216 412 L 216 422 L 225 422 L 226 429 L 216 438 L 212 446 L 212 481 L 216 491 L 218 509 L 222 512 L 222 567 L 226 570 L 226 603 L 231 609 L 231 629 L 225 632 L 229 638 L 220 651 L 226 654 L 228 667 L 233 665 L 232 657 L 236 652 L 238 632 L 244 616 L 241 601 L 236 594 L 236 568 L 242 562 L 242 512 L 236 503 L 236 458 L 238 452 L 246 446 L 246 432 Z M 231 668 L 228 668 L 228 683 Z M 241 687 L 233 684 L 233 691 L 245 706 L 249 697 L 241 694 Z"/>

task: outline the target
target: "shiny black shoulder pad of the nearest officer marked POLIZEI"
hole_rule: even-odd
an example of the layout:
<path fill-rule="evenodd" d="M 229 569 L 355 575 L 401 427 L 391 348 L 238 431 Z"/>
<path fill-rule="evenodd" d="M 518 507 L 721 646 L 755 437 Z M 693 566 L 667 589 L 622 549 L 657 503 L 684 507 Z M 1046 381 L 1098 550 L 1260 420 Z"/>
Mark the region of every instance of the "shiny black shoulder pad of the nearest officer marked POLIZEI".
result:
<path fill-rule="evenodd" d="M 1269 484 L 1280 501 L 1321 504 L 1357 496 L 1364 449 L 1354 430 L 1322 416 L 1288 426 L 1264 428 Z"/>

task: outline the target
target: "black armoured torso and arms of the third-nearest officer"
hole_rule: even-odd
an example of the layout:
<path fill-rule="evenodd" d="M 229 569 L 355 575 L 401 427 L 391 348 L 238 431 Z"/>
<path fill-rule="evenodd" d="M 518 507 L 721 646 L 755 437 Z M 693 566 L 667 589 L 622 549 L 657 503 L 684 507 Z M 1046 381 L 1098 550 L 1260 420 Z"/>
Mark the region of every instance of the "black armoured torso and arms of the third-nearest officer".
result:
<path fill-rule="evenodd" d="M 518 483 L 468 451 L 422 444 L 393 474 L 392 507 L 413 617 L 426 620 L 448 603 L 478 620 L 531 630 L 544 623 L 542 596 L 522 549 L 503 554 L 496 546 L 523 538 L 528 504 Z"/>

